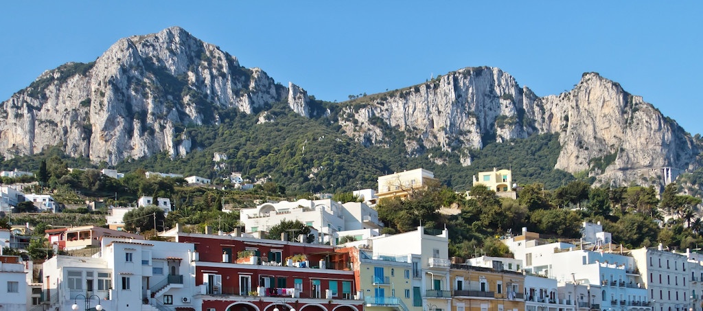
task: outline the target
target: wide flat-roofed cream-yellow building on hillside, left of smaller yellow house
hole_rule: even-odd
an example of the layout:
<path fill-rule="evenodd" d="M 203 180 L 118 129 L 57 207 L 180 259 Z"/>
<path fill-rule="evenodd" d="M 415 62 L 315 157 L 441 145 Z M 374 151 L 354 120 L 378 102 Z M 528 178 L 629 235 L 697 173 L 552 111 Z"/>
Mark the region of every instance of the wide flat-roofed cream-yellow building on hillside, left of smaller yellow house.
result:
<path fill-rule="evenodd" d="M 418 168 L 378 177 L 378 201 L 384 198 L 404 198 L 413 189 L 420 189 L 434 179 L 434 173 Z"/>

